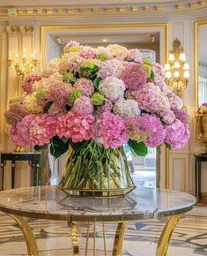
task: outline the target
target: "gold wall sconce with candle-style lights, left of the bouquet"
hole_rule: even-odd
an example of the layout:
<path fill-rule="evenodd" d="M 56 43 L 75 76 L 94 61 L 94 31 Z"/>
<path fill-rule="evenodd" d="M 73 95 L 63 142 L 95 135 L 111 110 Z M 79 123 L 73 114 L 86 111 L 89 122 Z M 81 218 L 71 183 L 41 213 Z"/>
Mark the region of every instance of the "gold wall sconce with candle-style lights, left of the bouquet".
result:
<path fill-rule="evenodd" d="M 31 53 L 30 57 L 26 56 L 26 49 L 23 49 L 22 56 L 16 54 L 16 58 L 12 59 L 12 53 L 9 52 L 8 67 L 15 68 L 18 77 L 22 76 L 24 78 L 27 73 L 34 72 L 35 67 L 37 66 L 38 60 L 36 59 L 36 50 Z"/>

